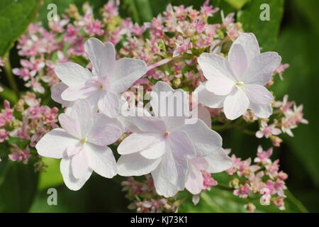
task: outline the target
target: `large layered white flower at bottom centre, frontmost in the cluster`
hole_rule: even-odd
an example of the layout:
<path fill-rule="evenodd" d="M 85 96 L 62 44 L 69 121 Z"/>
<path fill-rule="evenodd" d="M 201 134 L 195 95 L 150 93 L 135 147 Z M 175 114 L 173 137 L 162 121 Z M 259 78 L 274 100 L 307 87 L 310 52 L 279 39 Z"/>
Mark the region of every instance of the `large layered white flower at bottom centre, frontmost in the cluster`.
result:
<path fill-rule="evenodd" d="M 167 197 L 184 189 L 191 158 L 211 154 L 218 156 L 222 143 L 220 135 L 208 128 L 203 121 L 196 119 L 194 124 L 186 124 L 189 113 L 183 113 L 181 116 L 162 113 L 163 97 L 167 97 L 167 94 L 177 95 L 179 92 L 184 94 L 181 89 L 174 90 L 167 83 L 157 82 L 151 92 L 150 101 L 155 116 L 133 118 L 133 134 L 118 146 L 118 153 L 121 154 L 118 174 L 140 176 L 151 173 L 157 193 Z M 188 106 L 186 102 L 183 106 Z M 177 105 L 169 108 L 176 113 Z M 228 166 L 228 160 L 223 161 L 216 160 L 220 167 Z"/>

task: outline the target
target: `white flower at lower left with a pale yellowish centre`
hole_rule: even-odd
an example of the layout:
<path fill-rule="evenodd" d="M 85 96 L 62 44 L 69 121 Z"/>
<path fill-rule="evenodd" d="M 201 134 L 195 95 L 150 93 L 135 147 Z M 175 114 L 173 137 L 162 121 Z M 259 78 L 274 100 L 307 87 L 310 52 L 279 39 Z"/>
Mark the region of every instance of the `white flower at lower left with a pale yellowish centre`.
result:
<path fill-rule="evenodd" d="M 116 175 L 116 160 L 107 145 L 123 134 L 118 120 L 92 113 L 87 101 L 79 100 L 59 121 L 62 128 L 46 133 L 35 148 L 44 157 L 62 158 L 60 171 L 69 189 L 81 189 L 93 171 L 107 178 Z"/>

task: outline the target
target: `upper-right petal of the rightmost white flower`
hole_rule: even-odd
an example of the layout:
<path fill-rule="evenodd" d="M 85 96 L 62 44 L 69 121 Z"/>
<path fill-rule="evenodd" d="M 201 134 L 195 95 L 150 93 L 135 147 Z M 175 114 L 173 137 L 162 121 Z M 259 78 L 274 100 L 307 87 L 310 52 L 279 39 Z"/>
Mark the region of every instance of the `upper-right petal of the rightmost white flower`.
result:
<path fill-rule="evenodd" d="M 272 74 L 281 62 L 281 57 L 276 52 L 263 52 L 254 57 L 243 76 L 245 84 L 264 85 L 272 79 Z"/>

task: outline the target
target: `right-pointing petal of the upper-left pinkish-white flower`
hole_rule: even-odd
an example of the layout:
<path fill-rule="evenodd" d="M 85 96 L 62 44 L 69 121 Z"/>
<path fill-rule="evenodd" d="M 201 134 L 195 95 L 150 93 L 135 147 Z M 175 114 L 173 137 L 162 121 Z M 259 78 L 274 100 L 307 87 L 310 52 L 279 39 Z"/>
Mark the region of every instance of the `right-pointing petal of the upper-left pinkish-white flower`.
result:
<path fill-rule="evenodd" d="M 114 74 L 110 77 L 111 89 L 116 93 L 125 92 L 146 72 L 147 66 L 144 61 L 121 58 L 116 61 Z"/>

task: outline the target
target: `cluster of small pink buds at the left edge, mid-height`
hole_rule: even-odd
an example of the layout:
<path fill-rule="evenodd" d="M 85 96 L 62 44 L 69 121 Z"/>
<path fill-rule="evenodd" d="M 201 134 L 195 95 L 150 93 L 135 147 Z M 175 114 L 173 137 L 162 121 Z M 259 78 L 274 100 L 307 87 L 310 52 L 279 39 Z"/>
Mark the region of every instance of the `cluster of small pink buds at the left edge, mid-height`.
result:
<path fill-rule="evenodd" d="M 9 160 L 28 163 L 33 156 L 30 147 L 34 148 L 45 133 L 57 127 L 57 111 L 56 107 L 41 106 L 40 99 L 30 92 L 13 108 L 9 101 L 4 101 L 4 109 L 0 113 L 0 143 L 8 143 L 10 138 L 18 141 L 17 144 L 10 143 Z"/>

